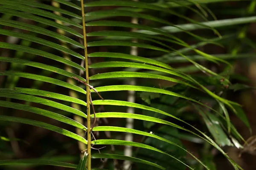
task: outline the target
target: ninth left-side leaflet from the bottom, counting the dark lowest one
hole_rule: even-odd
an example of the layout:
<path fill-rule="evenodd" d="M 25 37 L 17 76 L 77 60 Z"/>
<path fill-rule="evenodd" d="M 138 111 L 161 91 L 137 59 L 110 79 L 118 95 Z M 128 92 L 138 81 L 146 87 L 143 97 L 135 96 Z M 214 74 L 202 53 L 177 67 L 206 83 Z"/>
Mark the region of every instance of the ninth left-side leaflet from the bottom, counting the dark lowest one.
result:
<path fill-rule="evenodd" d="M 46 45 L 46 46 L 49 46 L 51 48 L 58 49 L 60 51 L 63 51 L 67 54 L 78 57 L 80 59 L 84 59 L 83 56 L 81 56 L 80 54 L 78 54 L 78 53 L 76 53 L 76 52 L 74 52 L 74 51 L 72 51 L 68 48 L 65 48 L 65 47 L 63 47 L 61 45 L 58 45 L 56 43 L 53 43 L 53 42 L 50 42 L 50 41 L 47 41 L 47 40 L 44 40 L 44 39 L 41 39 L 41 38 L 38 38 L 38 37 L 34 37 L 34 36 L 31 36 L 31 35 L 28 35 L 28 34 L 22 34 L 22 33 L 18 33 L 18 32 L 15 32 L 15 31 L 9 31 L 9 30 L 6 30 L 6 29 L 0 29 L 0 34 L 7 35 L 7 36 L 13 36 L 13 37 L 21 38 L 21 39 L 24 39 L 24 40 L 29 40 L 29 41 L 32 41 L 32 42 L 37 42 L 39 44 Z"/>

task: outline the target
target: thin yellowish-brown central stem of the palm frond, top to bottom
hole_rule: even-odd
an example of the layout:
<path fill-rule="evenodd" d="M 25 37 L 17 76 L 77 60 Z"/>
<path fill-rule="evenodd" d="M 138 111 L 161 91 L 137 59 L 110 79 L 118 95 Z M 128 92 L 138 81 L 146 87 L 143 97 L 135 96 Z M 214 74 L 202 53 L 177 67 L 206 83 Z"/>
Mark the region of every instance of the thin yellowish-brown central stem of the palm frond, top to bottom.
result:
<path fill-rule="evenodd" d="M 82 23 L 83 23 L 83 36 L 84 36 L 84 57 L 85 57 L 85 76 L 86 83 L 89 84 L 89 67 L 88 67 L 88 54 L 86 42 L 86 30 L 84 20 L 84 0 L 81 0 Z M 90 127 L 90 88 L 86 86 L 86 103 L 87 103 L 87 169 L 91 170 L 91 127 Z"/>

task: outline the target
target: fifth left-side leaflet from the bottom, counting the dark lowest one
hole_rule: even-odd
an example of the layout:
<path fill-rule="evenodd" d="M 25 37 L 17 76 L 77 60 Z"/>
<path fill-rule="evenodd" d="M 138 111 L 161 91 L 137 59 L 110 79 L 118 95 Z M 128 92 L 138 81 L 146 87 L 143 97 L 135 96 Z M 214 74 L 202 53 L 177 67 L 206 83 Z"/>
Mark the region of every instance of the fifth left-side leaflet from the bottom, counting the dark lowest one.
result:
<path fill-rule="evenodd" d="M 80 99 L 76 99 L 74 97 L 70 97 L 70 96 L 66 96 L 66 95 L 58 94 L 58 93 L 53 93 L 53 92 L 49 92 L 49 91 L 42 91 L 42 90 L 38 90 L 38 89 L 32 89 L 32 88 L 0 88 L 0 93 L 2 93 L 2 92 L 44 96 L 44 97 L 64 100 L 64 101 L 67 101 L 67 102 L 73 102 L 73 103 L 77 103 L 77 104 L 86 106 L 86 102 L 84 102 Z"/>

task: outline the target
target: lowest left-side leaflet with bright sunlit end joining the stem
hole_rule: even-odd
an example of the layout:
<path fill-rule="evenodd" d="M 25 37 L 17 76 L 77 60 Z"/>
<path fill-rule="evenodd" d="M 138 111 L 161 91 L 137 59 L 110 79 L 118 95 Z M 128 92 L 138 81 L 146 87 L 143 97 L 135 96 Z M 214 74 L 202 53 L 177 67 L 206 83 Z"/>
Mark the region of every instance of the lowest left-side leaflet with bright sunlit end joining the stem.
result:
<path fill-rule="evenodd" d="M 2 116 L 2 115 L 0 115 L 0 121 L 17 122 L 17 123 L 24 123 L 24 124 L 28 124 L 28 125 L 42 127 L 42 128 L 60 133 L 62 135 L 68 136 L 70 138 L 76 139 L 80 142 L 83 142 L 84 144 L 87 144 L 87 140 L 85 140 L 83 137 L 77 135 L 76 133 L 70 132 L 68 130 L 65 130 L 60 127 L 53 126 L 53 125 L 50 125 L 50 124 L 47 124 L 44 122 L 39 122 L 39 121 L 35 121 L 35 120 L 30 120 L 30 119 L 24 119 L 24 118 L 20 118 L 20 117 Z"/>

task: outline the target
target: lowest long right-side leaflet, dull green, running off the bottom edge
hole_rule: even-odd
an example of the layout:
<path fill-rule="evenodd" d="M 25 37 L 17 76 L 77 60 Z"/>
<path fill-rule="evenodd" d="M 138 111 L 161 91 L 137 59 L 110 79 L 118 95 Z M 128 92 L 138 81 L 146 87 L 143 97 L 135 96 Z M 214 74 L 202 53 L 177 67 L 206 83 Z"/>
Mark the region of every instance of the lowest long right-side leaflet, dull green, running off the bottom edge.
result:
<path fill-rule="evenodd" d="M 123 155 L 116 155 L 116 154 L 93 154 L 92 155 L 92 159 L 96 159 L 96 158 L 108 158 L 108 159 L 120 159 L 120 160 L 128 160 L 128 161 L 133 161 L 133 162 L 138 162 L 138 163 L 142 163 L 142 164 L 148 164 L 154 167 L 158 167 L 162 170 L 165 170 L 166 168 L 161 167 L 157 164 L 154 164 L 150 161 L 145 161 L 143 159 L 138 159 L 138 158 L 134 158 L 134 157 L 130 157 L 130 156 L 123 156 Z"/>

